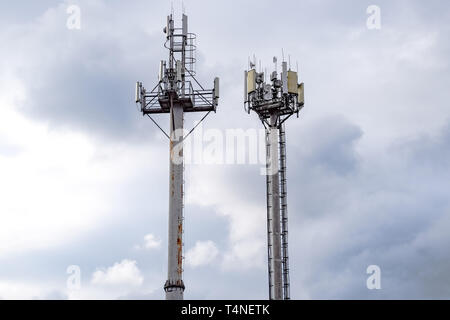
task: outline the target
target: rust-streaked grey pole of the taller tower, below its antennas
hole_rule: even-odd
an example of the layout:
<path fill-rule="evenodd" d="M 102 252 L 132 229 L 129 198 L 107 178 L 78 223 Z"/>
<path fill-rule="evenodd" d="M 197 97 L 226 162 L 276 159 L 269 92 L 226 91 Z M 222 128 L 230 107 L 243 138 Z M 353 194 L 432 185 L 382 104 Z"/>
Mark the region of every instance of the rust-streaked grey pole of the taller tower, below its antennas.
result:
<path fill-rule="evenodd" d="M 170 97 L 169 253 L 166 300 L 183 300 L 183 106 Z"/>

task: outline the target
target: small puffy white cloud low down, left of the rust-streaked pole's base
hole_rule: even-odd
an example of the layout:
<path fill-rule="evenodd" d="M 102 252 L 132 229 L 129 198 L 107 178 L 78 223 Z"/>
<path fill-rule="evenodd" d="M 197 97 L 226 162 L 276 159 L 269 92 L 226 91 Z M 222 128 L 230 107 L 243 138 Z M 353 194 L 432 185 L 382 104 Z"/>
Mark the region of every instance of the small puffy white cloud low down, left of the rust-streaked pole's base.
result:
<path fill-rule="evenodd" d="M 116 262 L 112 267 L 95 271 L 91 283 L 102 286 L 139 287 L 143 281 L 137 262 L 125 259 Z"/>

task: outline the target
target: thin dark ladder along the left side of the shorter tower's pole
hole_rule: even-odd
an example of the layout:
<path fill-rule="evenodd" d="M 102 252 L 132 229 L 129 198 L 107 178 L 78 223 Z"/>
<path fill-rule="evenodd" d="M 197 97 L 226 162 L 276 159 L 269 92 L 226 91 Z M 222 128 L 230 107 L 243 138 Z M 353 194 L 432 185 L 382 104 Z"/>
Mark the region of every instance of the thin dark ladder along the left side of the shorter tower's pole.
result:
<path fill-rule="evenodd" d="M 267 263 L 269 271 L 269 299 L 273 299 L 273 283 L 272 283 L 272 219 L 270 218 L 270 210 L 272 209 L 271 184 L 272 176 L 270 174 L 270 129 L 266 129 L 266 199 L 267 199 Z"/>

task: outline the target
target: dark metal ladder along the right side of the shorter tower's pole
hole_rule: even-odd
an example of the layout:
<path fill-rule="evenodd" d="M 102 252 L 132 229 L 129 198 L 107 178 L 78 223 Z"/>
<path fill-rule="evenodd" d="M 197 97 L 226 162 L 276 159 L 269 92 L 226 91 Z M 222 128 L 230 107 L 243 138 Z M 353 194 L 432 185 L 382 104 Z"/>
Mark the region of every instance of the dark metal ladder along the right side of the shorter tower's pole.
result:
<path fill-rule="evenodd" d="M 288 211 L 286 185 L 286 133 L 284 124 L 279 128 L 280 145 L 280 210 L 281 210 L 281 251 L 283 266 L 283 297 L 290 299 L 289 252 L 288 252 Z"/>

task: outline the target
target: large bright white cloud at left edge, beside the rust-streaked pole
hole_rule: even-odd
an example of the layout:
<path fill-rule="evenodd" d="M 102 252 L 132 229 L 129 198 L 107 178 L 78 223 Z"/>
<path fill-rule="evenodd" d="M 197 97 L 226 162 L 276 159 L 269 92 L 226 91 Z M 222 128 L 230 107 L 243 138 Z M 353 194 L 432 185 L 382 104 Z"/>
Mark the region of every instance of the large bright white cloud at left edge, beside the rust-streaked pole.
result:
<path fill-rule="evenodd" d="M 156 159 L 157 149 L 98 144 L 83 132 L 55 132 L 24 117 L 8 100 L 0 98 L 0 140 L 18 151 L 0 150 L 0 256 L 63 246 L 101 228 L 98 222 L 106 215 L 112 222 L 123 210 L 133 210 L 118 204 L 129 202 L 123 186 L 135 184 L 132 189 L 138 190 L 142 173 L 152 175 L 147 159 Z M 121 148 L 127 151 L 119 155 Z"/>

